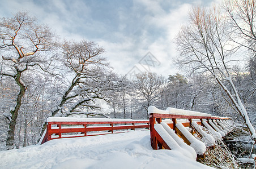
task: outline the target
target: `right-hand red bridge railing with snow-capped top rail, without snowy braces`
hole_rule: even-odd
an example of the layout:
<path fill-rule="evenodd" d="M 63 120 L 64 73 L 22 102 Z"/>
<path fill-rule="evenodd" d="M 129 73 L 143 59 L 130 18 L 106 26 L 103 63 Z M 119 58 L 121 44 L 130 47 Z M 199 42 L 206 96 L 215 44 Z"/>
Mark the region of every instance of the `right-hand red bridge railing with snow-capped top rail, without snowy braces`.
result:
<path fill-rule="evenodd" d="M 160 124 L 162 121 L 166 122 L 170 128 L 172 128 L 178 136 L 180 136 L 185 143 L 190 145 L 190 141 L 184 134 L 176 127 L 177 123 L 182 123 L 184 127 L 194 128 L 192 122 L 196 122 L 198 125 L 204 126 L 203 121 L 206 121 L 209 126 L 214 128 L 210 121 L 223 122 L 226 119 L 224 117 L 216 117 L 207 113 L 194 112 L 190 110 L 167 108 L 167 110 L 159 110 L 155 106 L 148 108 L 150 114 L 150 135 L 151 146 L 153 149 L 170 149 L 165 140 L 155 130 L 155 124 Z M 216 127 L 216 126 L 215 126 Z M 220 126 L 218 126 L 220 127 Z M 193 132 L 193 130 L 192 130 Z M 204 154 L 203 154 L 204 155 Z M 203 158 L 203 157 L 202 157 Z"/>

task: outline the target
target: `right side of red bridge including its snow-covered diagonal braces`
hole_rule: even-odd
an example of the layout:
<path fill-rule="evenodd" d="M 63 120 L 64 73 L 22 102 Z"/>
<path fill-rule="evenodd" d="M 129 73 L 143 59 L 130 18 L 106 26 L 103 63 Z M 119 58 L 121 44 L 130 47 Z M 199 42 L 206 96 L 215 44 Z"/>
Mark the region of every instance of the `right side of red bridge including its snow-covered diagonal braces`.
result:
<path fill-rule="evenodd" d="M 182 109 L 174 109 L 174 108 L 167 108 L 167 110 L 160 110 L 160 109 L 157 109 L 155 106 L 150 106 L 148 108 L 148 113 L 150 114 L 150 135 L 151 135 L 151 146 L 153 149 L 163 149 L 163 148 L 171 149 L 172 145 L 170 144 L 174 144 L 174 145 L 177 144 L 177 143 L 174 143 L 173 139 L 170 139 L 169 136 L 168 137 L 164 136 L 164 134 L 168 132 L 162 131 L 161 127 L 157 126 L 158 124 L 163 125 L 163 122 L 167 122 L 168 126 L 172 128 L 175 131 L 175 133 L 178 136 L 180 136 L 187 145 L 190 145 L 195 149 L 195 152 L 197 152 L 198 159 L 205 157 L 204 155 L 204 152 L 206 150 L 205 145 L 209 144 L 209 139 L 212 143 L 214 143 L 215 142 L 214 138 L 216 138 L 216 136 L 215 137 L 209 136 L 211 133 L 207 134 L 206 132 L 203 132 L 203 130 L 200 129 L 200 126 L 206 126 L 206 127 L 208 126 L 209 128 L 211 126 L 214 126 L 214 128 L 211 127 L 210 130 L 212 130 L 212 132 L 213 131 L 217 132 L 217 134 L 215 135 L 221 135 L 221 134 L 225 135 L 225 133 L 221 131 L 224 129 L 220 125 L 218 125 L 216 122 L 215 122 L 216 124 L 214 124 L 212 120 L 214 119 L 224 120 L 227 118 L 215 117 L 207 113 L 200 113 L 200 112 L 194 112 L 190 110 L 182 110 Z M 209 125 L 209 123 L 211 123 L 211 126 Z M 190 132 L 185 127 L 191 127 L 194 130 L 198 131 L 198 134 L 202 136 L 203 140 L 206 140 L 208 142 L 202 143 L 202 141 L 195 139 L 195 137 L 192 134 L 190 134 Z M 165 128 L 165 130 L 167 129 Z M 172 137 L 170 133 L 169 135 Z M 221 136 L 220 136 L 220 139 L 221 139 Z M 176 146 L 174 147 L 176 148 Z"/>

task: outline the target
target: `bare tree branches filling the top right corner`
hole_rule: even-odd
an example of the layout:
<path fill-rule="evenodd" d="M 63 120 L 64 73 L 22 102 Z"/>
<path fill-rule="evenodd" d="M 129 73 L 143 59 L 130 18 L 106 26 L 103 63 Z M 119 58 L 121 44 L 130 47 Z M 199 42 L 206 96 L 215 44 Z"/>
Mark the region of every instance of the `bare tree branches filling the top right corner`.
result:
<path fill-rule="evenodd" d="M 256 1 L 224 1 L 224 10 L 229 16 L 229 33 L 231 41 L 239 47 L 246 47 L 255 56 L 256 52 Z"/>

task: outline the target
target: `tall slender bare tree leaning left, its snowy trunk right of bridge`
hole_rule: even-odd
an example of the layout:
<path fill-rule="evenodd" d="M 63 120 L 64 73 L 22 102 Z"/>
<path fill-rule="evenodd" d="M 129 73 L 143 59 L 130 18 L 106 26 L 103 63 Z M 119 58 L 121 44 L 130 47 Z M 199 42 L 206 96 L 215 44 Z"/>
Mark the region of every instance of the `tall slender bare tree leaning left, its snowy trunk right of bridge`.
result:
<path fill-rule="evenodd" d="M 208 73 L 219 83 L 234 109 L 244 119 L 251 136 L 256 139 L 246 109 L 232 80 L 231 66 L 236 48 L 231 48 L 227 19 L 218 8 L 199 7 L 190 12 L 189 24 L 181 28 L 176 44 L 180 55 L 177 64 L 192 72 Z M 240 57 L 241 58 L 241 57 Z"/>

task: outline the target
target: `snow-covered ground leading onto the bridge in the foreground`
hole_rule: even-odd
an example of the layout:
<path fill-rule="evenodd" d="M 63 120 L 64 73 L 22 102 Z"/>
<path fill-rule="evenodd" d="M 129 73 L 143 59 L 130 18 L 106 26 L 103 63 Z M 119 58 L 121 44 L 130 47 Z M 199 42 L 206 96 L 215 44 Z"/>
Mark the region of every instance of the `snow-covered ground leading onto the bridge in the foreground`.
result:
<path fill-rule="evenodd" d="M 177 150 L 153 150 L 150 131 L 56 139 L 0 152 L 0 168 L 211 168 Z"/>

